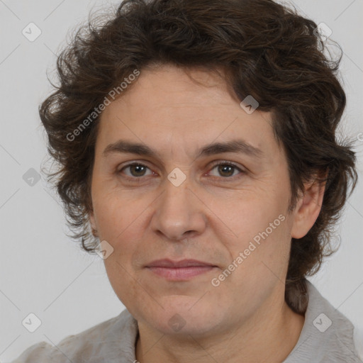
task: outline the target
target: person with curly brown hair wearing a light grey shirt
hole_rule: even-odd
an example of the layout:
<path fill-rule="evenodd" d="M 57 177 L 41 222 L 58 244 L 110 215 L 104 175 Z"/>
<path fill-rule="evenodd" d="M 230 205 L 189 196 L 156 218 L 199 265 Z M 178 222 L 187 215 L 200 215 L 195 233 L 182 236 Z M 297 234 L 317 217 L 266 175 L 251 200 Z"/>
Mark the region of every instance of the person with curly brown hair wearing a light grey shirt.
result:
<path fill-rule="evenodd" d="M 97 21 L 39 111 L 73 236 L 126 309 L 13 362 L 362 363 L 307 279 L 357 183 L 317 24 L 272 0 L 125 0 Z"/>

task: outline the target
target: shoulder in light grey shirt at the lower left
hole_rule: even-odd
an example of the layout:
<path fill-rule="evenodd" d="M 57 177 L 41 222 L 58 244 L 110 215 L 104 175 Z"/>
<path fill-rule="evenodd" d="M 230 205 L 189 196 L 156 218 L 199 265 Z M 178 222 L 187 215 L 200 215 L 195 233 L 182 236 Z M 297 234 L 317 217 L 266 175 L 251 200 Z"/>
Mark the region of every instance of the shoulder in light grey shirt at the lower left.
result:
<path fill-rule="evenodd" d="M 116 362 L 110 354 L 118 354 L 118 359 L 120 354 L 134 354 L 130 347 L 137 333 L 136 320 L 124 310 L 82 333 L 68 335 L 55 346 L 47 342 L 32 345 L 11 363 Z"/>

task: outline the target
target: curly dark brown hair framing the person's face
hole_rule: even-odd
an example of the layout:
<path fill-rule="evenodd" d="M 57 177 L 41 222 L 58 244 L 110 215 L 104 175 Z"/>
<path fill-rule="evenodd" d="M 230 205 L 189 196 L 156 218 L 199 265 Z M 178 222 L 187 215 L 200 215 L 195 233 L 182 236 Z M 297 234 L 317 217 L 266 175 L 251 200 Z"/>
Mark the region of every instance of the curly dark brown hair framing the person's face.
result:
<path fill-rule="evenodd" d="M 95 106 L 135 69 L 223 69 L 236 99 L 252 95 L 260 111 L 272 112 L 274 135 L 289 163 L 289 210 L 304 182 L 326 182 L 315 224 L 291 240 L 285 298 L 294 311 L 303 311 L 296 291 L 303 292 L 306 277 L 335 252 L 333 226 L 349 184 L 352 193 L 357 183 L 352 142 L 336 135 L 346 104 L 338 80 L 342 53 L 334 60 L 327 49 L 313 21 L 272 0 L 125 0 L 111 17 L 89 18 L 57 58 L 60 86 L 53 84 L 56 91 L 39 108 L 48 151 L 60 165 L 48 177 L 57 177 L 72 237 L 95 252 L 99 241 L 89 226 Z"/>

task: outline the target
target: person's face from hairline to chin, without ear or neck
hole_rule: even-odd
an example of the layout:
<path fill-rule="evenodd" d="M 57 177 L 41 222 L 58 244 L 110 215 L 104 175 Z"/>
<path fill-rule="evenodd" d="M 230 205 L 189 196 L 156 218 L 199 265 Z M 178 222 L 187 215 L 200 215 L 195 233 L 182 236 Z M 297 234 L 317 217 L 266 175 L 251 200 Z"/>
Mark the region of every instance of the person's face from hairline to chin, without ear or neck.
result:
<path fill-rule="evenodd" d="M 287 212 L 271 115 L 246 113 L 215 75 L 191 75 L 202 84 L 145 69 L 106 107 L 91 225 L 113 247 L 106 272 L 139 326 L 198 336 L 283 300 L 291 235 L 308 228 Z"/>

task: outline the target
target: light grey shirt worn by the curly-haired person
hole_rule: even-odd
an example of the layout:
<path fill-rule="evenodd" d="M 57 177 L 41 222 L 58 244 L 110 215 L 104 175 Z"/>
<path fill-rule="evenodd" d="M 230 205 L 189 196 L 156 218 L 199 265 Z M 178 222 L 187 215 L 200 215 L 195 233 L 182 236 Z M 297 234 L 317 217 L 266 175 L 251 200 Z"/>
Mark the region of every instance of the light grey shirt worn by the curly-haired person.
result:
<path fill-rule="evenodd" d="M 358 340 L 350 320 L 335 310 L 310 281 L 307 288 L 303 330 L 282 363 L 363 363 L 363 337 Z M 137 321 L 124 310 L 115 318 L 65 337 L 57 347 L 47 342 L 32 345 L 11 363 L 133 363 L 137 336 Z"/>

